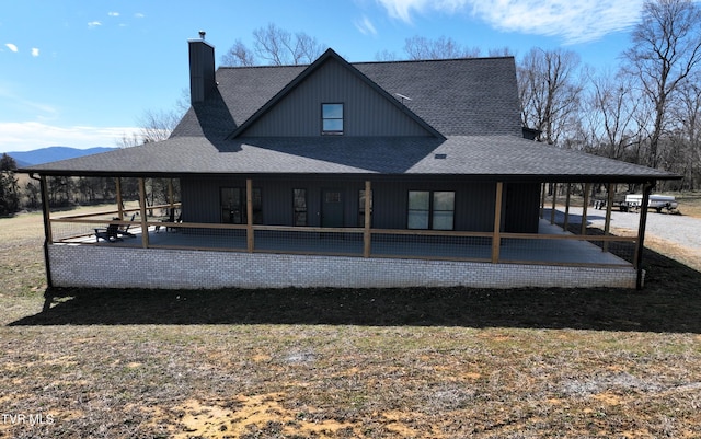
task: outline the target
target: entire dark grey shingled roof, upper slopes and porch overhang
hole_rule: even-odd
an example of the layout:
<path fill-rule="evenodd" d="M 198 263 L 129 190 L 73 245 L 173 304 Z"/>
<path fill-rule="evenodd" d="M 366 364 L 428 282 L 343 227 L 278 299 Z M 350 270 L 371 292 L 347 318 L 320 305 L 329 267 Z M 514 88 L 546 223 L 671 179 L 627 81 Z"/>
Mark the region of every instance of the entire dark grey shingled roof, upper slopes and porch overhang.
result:
<path fill-rule="evenodd" d="M 345 63 L 434 135 L 245 137 L 248 125 L 326 60 Z M 216 81 L 211 95 L 193 104 L 169 140 L 23 171 L 123 176 L 437 174 L 576 182 L 677 177 L 522 139 L 512 57 L 346 63 L 330 50 L 311 66 L 219 68 Z"/>

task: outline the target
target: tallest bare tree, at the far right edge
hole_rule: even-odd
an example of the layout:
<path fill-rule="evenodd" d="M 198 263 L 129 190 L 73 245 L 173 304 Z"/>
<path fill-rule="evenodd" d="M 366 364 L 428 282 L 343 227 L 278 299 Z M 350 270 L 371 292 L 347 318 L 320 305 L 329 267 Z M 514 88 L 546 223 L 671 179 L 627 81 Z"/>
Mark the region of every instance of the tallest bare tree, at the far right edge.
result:
<path fill-rule="evenodd" d="M 669 101 L 701 62 L 701 10 L 691 0 L 647 1 L 632 38 L 633 46 L 623 54 L 624 70 L 640 81 L 653 103 L 647 164 L 657 167 Z"/>

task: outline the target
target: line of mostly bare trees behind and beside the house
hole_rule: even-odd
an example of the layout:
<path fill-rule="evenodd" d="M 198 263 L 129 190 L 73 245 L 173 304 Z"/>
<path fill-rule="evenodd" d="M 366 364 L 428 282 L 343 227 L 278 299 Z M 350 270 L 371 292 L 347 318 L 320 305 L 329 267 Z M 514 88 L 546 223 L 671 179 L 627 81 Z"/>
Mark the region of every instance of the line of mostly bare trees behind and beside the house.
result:
<path fill-rule="evenodd" d="M 253 46 L 237 39 L 221 65 L 306 65 L 327 46 L 303 32 L 291 33 L 271 23 L 253 32 Z M 474 58 L 479 47 L 451 37 L 405 39 L 403 54 L 376 54 L 378 61 Z M 553 148 L 579 150 L 631 163 L 666 170 L 682 176 L 660 189 L 696 190 L 701 187 L 701 7 L 692 0 L 648 0 L 641 21 L 631 32 L 630 46 L 620 65 L 596 71 L 583 65 L 575 51 L 535 47 L 522 56 L 508 47 L 487 56 L 516 59 L 520 117 L 524 127 L 538 132 L 536 140 Z M 147 111 L 141 132 L 123 137 L 120 147 L 168 138 L 186 111 L 186 96 L 169 112 Z M 11 160 L 11 158 L 8 158 Z M 20 187 L 13 163 L 2 158 L 0 215 L 38 205 L 35 182 Z M 153 181 L 150 197 L 163 201 L 166 184 Z M 51 205 L 91 203 L 114 196 L 110 178 L 53 178 Z M 136 183 L 123 183 L 125 197 L 138 194 Z M 14 209 L 14 210 L 13 210 Z"/>

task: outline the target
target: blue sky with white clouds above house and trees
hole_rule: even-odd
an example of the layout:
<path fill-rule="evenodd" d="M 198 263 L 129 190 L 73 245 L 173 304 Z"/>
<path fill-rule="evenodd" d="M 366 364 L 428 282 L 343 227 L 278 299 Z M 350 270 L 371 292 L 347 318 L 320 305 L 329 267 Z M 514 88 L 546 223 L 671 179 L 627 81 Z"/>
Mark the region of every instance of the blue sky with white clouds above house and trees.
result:
<path fill-rule="evenodd" d="M 579 54 L 614 70 L 643 0 L 0 0 L 0 153 L 50 146 L 116 147 L 145 112 L 187 90 L 187 39 L 221 56 L 274 23 L 350 62 L 404 57 L 407 38 L 467 47 Z"/>

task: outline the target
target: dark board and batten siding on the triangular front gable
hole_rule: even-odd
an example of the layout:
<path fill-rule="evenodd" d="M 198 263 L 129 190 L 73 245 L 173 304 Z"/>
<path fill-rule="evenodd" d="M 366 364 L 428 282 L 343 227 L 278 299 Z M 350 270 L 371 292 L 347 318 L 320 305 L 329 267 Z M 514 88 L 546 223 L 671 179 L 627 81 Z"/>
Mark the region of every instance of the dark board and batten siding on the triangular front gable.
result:
<path fill-rule="evenodd" d="M 323 103 L 344 105 L 344 136 L 430 136 L 386 95 L 335 60 L 298 84 L 242 136 L 320 136 Z"/>

